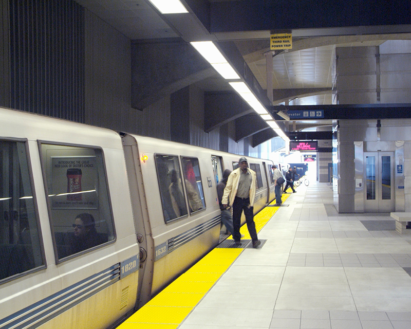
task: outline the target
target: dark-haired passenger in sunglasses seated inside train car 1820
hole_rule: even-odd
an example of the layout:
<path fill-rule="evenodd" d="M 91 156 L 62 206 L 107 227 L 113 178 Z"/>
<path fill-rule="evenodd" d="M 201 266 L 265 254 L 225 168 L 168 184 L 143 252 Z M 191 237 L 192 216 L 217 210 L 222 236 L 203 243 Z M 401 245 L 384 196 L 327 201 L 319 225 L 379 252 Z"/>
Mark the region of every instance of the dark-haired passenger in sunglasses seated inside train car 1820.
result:
<path fill-rule="evenodd" d="M 96 222 L 91 214 L 82 213 L 78 215 L 74 221 L 73 228 L 74 235 L 70 241 L 71 253 L 90 249 L 102 243 L 99 241 Z"/>

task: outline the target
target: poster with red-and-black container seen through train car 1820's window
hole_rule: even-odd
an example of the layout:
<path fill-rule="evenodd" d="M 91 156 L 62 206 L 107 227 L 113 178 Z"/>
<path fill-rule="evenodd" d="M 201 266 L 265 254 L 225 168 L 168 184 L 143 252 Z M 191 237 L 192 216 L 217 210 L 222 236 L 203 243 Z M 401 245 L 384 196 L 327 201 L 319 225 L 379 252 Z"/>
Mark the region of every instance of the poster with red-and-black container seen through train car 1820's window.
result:
<path fill-rule="evenodd" d="M 51 157 L 51 207 L 97 209 L 95 156 Z"/>

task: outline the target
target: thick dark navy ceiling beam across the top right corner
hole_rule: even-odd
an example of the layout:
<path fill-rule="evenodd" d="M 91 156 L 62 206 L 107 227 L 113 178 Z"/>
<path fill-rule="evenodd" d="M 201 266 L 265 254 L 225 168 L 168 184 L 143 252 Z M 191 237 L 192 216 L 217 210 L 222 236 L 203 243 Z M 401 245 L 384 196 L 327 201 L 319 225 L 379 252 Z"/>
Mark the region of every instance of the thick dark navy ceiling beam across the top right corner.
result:
<path fill-rule="evenodd" d="M 358 27 L 361 27 L 363 34 L 372 34 L 367 32 L 378 30 L 382 26 L 392 33 L 393 28 L 398 28 L 396 25 L 402 25 L 403 32 L 404 28 L 411 31 L 409 1 L 396 2 L 395 6 L 389 1 L 301 1 L 298 5 L 291 4 L 292 14 L 285 14 L 289 7 L 290 3 L 286 0 L 212 2 L 210 32 L 319 29 L 316 33 L 327 35 L 324 34 L 327 33 L 324 31 L 326 28 L 344 30 L 355 27 L 358 31 Z M 383 33 L 381 29 L 379 33 Z"/>

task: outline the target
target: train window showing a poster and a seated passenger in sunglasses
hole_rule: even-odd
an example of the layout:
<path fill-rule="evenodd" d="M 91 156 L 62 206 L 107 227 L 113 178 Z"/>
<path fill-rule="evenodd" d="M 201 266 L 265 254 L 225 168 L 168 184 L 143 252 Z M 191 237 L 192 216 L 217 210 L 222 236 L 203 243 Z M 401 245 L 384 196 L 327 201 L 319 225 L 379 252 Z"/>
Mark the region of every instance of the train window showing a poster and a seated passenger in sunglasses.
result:
<path fill-rule="evenodd" d="M 115 239 L 101 150 L 41 144 L 57 260 Z"/>

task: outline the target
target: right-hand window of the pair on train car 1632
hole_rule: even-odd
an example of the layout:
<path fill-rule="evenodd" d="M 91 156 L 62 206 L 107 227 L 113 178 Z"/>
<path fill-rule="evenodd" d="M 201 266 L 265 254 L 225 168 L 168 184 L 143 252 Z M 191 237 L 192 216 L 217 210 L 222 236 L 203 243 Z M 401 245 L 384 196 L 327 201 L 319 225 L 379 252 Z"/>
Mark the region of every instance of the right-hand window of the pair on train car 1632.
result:
<path fill-rule="evenodd" d="M 197 158 L 181 157 L 185 191 L 189 199 L 190 212 L 206 208 L 202 189 L 200 166 Z"/>

